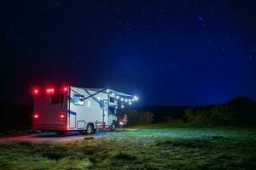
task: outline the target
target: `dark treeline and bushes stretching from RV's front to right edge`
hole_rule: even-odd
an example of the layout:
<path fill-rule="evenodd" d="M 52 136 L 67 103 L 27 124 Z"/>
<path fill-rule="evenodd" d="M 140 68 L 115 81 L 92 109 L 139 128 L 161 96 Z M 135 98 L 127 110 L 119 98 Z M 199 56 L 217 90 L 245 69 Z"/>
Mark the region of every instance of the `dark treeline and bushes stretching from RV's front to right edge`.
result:
<path fill-rule="evenodd" d="M 199 126 L 256 126 L 256 103 L 246 97 L 236 97 L 223 105 L 150 106 L 121 111 L 128 115 L 129 124 L 152 122 L 188 122 Z"/>

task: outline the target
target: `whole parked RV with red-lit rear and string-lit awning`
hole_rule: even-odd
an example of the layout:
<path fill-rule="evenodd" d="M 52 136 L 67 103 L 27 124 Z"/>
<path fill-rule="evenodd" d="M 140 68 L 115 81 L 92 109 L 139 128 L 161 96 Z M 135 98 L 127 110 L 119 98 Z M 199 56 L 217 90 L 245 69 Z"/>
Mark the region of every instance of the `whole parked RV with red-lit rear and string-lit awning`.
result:
<path fill-rule="evenodd" d="M 67 133 L 95 133 L 115 129 L 116 112 L 136 96 L 105 88 L 34 88 L 33 129 Z"/>

